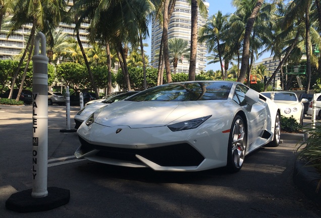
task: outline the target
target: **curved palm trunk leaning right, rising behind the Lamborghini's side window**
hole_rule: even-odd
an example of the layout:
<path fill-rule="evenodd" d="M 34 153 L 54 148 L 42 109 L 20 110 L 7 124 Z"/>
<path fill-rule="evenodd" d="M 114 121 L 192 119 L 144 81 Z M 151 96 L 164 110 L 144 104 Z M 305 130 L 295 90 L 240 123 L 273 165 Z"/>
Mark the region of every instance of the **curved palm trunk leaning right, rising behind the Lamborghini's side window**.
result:
<path fill-rule="evenodd" d="M 258 0 L 256 5 L 252 11 L 251 16 L 249 17 L 244 34 L 244 42 L 243 42 L 243 52 L 242 52 L 242 64 L 241 64 L 241 71 L 240 75 L 237 79 L 238 82 L 244 83 L 246 72 L 248 70 L 248 61 L 249 61 L 249 50 L 250 50 L 250 37 L 251 31 L 254 25 L 255 18 L 261 8 L 263 0 Z"/>

